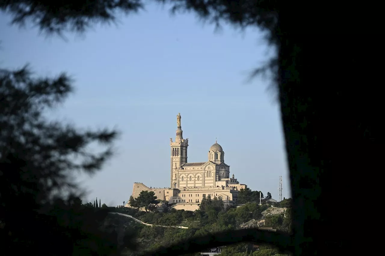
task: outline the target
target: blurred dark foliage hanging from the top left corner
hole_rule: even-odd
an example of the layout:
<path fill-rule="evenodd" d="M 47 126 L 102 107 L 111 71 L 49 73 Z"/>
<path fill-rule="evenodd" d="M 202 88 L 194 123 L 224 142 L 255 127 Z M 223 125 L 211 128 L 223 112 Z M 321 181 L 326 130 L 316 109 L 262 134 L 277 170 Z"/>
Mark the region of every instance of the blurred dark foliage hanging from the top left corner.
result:
<path fill-rule="evenodd" d="M 60 34 L 64 30 L 84 32 L 97 22 L 114 22 L 117 11 L 137 12 L 141 7 L 141 0 L 0 1 L 0 8 L 12 14 L 13 24 L 23 26 L 29 20 L 49 34 Z"/>

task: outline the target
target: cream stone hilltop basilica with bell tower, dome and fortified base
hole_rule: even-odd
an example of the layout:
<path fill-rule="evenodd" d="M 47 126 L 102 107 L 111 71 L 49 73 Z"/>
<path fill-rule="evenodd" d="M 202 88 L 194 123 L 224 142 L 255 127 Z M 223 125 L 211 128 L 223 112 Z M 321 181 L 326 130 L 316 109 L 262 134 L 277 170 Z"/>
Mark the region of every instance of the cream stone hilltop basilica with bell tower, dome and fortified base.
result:
<path fill-rule="evenodd" d="M 181 115 L 177 115 L 175 141 L 170 138 L 170 187 L 148 188 L 143 183 L 134 183 L 132 196 L 137 198 L 143 190 L 154 191 L 157 199 L 167 201 L 175 209 L 194 211 L 205 195 L 221 197 L 224 204 L 235 205 L 241 188 L 247 188 L 234 177 L 230 177 L 230 166 L 224 162 L 224 151 L 217 142 L 209 149 L 204 162 L 188 163 L 189 140 L 183 138 Z M 127 201 L 126 207 L 130 207 Z"/>

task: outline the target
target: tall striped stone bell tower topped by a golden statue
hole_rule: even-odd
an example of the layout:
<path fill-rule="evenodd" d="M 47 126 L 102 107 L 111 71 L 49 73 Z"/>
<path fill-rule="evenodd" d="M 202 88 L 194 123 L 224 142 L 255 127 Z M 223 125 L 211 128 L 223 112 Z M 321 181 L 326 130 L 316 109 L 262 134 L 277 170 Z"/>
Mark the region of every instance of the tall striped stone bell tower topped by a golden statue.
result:
<path fill-rule="evenodd" d="M 187 163 L 187 147 L 189 146 L 189 139 L 183 139 L 181 114 L 176 116 L 177 129 L 175 141 L 170 138 L 171 147 L 171 171 L 170 171 L 170 188 L 179 188 L 179 168 L 184 163 Z"/>

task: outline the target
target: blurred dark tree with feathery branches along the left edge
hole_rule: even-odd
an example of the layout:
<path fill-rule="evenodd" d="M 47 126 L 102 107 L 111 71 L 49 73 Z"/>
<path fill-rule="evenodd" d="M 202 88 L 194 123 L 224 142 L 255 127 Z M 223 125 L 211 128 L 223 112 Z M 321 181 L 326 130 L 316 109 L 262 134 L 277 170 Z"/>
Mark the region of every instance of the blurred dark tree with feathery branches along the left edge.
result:
<path fill-rule="evenodd" d="M 116 251 L 116 241 L 96 228 L 107 210 L 82 207 L 78 196 L 82 191 L 72 179 L 80 171 L 92 174 L 100 169 L 112 155 L 116 131 L 82 131 L 46 120 L 42 114 L 69 95 L 70 82 L 65 74 L 34 78 L 27 66 L 0 70 L 0 238 L 4 250 L 40 255 Z M 105 145 L 105 150 L 88 153 L 85 148 L 92 142 Z M 91 240 L 98 245 L 86 246 Z"/>

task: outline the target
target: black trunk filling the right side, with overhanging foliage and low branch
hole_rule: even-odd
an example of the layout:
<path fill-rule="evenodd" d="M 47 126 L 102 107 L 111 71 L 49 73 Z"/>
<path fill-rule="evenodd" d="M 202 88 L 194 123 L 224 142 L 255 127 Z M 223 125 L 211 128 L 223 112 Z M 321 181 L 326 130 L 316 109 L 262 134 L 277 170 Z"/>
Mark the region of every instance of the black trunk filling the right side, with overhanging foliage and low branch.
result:
<path fill-rule="evenodd" d="M 30 18 L 46 32 L 82 32 L 92 22 L 114 21 L 114 11 L 137 11 L 141 7 L 139 1 L 107 2 L 10 0 L 1 1 L 0 8 L 14 15 L 14 23 L 22 24 Z M 355 184 L 364 185 L 370 178 L 370 172 L 359 179 L 352 173 L 382 166 L 377 140 L 378 128 L 382 127 L 382 108 L 378 107 L 382 94 L 373 86 L 378 84 L 381 71 L 380 65 L 371 65 L 373 56 L 380 55 L 375 50 L 382 49 L 378 47 L 382 41 L 373 39 L 378 33 L 370 37 L 353 33 L 358 28 L 372 28 L 376 15 L 366 19 L 358 9 L 361 6 L 330 1 L 311 10 L 304 10 L 300 1 L 156 2 L 173 3 L 173 10 L 194 11 L 217 25 L 222 21 L 241 28 L 258 26 L 276 47 L 276 58 L 254 75 L 266 70 L 274 75 L 290 169 L 293 234 L 237 230 L 194 238 L 151 255 L 181 255 L 256 240 L 274 243 L 294 255 L 345 253 L 351 248 L 345 241 L 354 241 L 352 236 L 357 232 L 352 232 L 352 223 L 335 211 L 340 208 L 340 200 L 330 199 L 346 194 Z M 21 168 L 21 163 L 11 170 Z M 346 197 L 344 205 L 353 205 L 355 200 Z M 344 227 L 343 233 L 336 227 Z"/>

